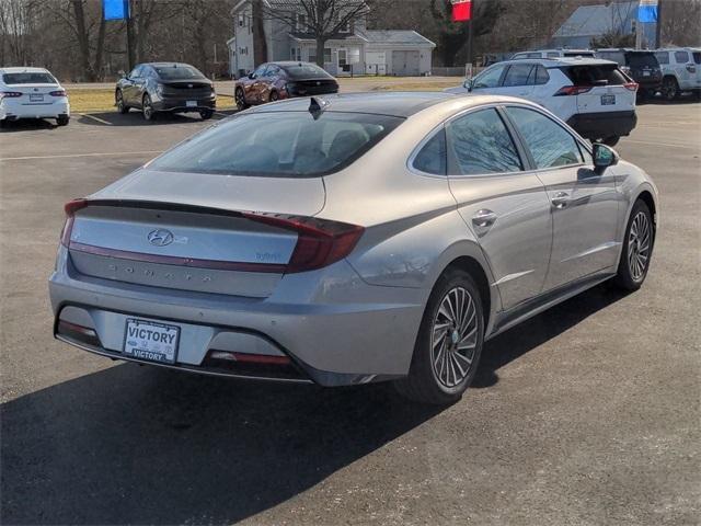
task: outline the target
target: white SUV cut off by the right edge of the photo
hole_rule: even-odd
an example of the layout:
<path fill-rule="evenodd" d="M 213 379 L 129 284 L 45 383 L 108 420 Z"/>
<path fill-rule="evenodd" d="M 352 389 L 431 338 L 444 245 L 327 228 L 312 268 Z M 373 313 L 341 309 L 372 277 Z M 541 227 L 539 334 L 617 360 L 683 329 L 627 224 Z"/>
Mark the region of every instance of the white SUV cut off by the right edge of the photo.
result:
<path fill-rule="evenodd" d="M 662 68 L 662 95 L 673 101 L 685 91 L 701 98 L 701 48 L 673 47 L 657 49 Z"/>

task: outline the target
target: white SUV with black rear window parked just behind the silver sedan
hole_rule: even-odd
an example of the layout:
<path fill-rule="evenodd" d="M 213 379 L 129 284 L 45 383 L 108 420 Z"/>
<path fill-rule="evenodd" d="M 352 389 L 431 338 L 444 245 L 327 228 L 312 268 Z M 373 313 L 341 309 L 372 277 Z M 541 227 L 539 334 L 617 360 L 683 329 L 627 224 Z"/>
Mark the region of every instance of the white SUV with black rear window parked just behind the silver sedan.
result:
<path fill-rule="evenodd" d="M 612 146 L 635 128 L 636 90 L 637 84 L 616 62 L 563 57 L 505 60 L 446 91 L 528 99 L 582 137 Z"/>

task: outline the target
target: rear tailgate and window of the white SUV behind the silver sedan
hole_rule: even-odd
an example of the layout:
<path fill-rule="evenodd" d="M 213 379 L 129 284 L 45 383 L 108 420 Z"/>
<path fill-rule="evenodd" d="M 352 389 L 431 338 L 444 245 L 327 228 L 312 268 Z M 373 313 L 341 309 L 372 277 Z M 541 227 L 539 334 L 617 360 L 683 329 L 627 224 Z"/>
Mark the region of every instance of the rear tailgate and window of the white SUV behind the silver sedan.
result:
<path fill-rule="evenodd" d="M 632 112 L 635 87 L 614 65 L 563 68 L 577 91 L 577 113 Z M 586 89 L 588 88 L 588 90 Z"/>

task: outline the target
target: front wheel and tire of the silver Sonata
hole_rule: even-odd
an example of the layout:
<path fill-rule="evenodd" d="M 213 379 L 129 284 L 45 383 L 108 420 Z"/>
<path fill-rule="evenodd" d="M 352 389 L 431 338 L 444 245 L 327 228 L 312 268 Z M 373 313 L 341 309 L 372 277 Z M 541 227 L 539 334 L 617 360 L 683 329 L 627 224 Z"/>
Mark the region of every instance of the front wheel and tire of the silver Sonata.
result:
<path fill-rule="evenodd" d="M 655 226 L 647 204 L 637 199 L 625 227 L 625 238 L 613 284 L 623 290 L 637 290 L 645 282 L 655 244 Z"/>

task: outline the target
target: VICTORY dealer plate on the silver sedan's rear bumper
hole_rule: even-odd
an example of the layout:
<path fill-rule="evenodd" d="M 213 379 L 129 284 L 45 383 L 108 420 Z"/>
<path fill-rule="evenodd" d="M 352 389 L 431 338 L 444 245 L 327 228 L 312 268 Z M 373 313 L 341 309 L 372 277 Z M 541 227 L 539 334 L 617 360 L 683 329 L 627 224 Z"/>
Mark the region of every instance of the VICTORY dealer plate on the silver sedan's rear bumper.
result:
<path fill-rule="evenodd" d="M 139 329 L 143 329 L 145 332 L 139 332 Z M 122 354 L 145 362 L 174 364 L 180 346 L 180 329 L 179 325 L 170 323 L 142 318 L 127 318 L 124 327 Z M 156 334 L 159 336 L 154 336 Z"/>

